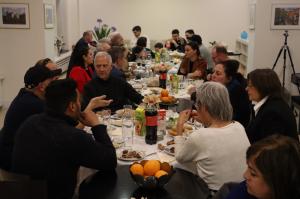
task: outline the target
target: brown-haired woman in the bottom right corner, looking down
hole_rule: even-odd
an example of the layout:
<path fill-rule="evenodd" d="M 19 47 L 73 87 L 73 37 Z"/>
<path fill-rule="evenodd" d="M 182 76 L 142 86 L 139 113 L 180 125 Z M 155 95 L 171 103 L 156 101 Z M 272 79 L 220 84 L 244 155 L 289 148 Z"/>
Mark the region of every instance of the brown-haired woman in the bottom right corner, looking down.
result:
<path fill-rule="evenodd" d="M 300 146 L 294 139 L 272 135 L 249 147 L 246 181 L 226 199 L 299 199 Z"/>

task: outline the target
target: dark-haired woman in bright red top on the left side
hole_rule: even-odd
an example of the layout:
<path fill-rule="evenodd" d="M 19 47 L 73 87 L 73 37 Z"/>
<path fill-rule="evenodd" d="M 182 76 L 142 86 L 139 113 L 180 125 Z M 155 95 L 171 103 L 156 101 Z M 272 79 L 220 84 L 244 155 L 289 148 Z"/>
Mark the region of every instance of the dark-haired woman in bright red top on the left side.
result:
<path fill-rule="evenodd" d="M 76 81 L 77 89 L 80 93 L 82 93 L 84 85 L 92 79 L 92 75 L 94 74 L 90 66 L 93 64 L 93 58 L 93 51 L 91 49 L 82 49 L 68 76 Z"/>

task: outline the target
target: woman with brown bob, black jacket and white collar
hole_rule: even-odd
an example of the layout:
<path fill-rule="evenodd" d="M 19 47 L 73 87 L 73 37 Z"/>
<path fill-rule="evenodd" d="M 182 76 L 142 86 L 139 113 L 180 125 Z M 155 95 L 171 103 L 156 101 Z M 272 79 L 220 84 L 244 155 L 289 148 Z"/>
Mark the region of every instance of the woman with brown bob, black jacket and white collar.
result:
<path fill-rule="evenodd" d="M 250 72 L 247 92 L 255 104 L 246 128 L 251 143 L 275 133 L 298 140 L 295 116 L 282 97 L 282 86 L 273 70 Z"/>

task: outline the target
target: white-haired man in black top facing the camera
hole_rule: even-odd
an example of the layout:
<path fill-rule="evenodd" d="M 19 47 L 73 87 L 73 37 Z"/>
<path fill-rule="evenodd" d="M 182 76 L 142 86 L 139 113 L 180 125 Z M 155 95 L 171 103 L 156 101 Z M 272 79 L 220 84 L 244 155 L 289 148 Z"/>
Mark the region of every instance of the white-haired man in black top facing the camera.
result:
<path fill-rule="evenodd" d="M 106 95 L 107 99 L 113 100 L 108 106 L 112 112 L 122 109 L 125 104 L 142 102 L 143 96 L 129 83 L 111 75 L 112 60 L 108 53 L 98 52 L 94 65 L 97 77 L 84 87 L 83 107 L 89 103 L 91 98 L 100 95 Z"/>

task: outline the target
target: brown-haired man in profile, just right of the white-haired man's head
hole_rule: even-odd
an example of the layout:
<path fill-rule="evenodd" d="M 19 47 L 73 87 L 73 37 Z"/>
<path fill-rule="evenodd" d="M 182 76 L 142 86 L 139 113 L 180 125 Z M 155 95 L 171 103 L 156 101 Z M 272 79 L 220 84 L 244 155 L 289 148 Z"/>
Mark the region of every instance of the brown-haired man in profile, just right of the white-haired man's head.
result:
<path fill-rule="evenodd" d="M 128 66 L 127 50 L 124 47 L 113 46 L 108 52 L 112 58 L 111 75 L 126 81 L 124 69 Z"/>

